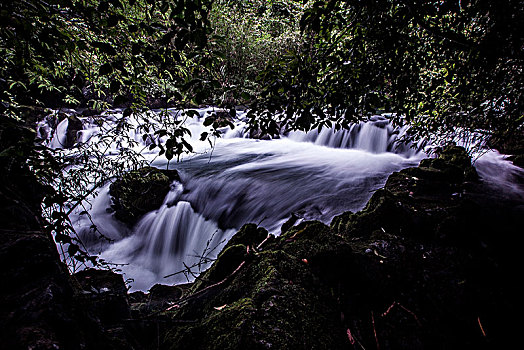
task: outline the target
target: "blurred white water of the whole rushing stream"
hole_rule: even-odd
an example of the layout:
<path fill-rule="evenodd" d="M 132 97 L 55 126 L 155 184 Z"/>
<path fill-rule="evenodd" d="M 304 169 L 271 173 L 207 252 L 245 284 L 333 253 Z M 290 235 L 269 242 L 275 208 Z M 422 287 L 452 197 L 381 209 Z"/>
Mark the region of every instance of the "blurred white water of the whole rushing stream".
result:
<path fill-rule="evenodd" d="M 425 156 L 419 152 L 420 145 L 399 145 L 396 140 L 405 129 L 392 128 L 380 116 L 339 132 L 325 128 L 320 133 L 294 132 L 280 139 L 254 140 L 245 138 L 242 113 L 237 128 L 224 129 L 224 138 L 218 139 L 210 152 L 207 142 L 198 141 L 200 133 L 206 131 L 202 117 L 209 110 L 199 110 L 200 118 L 186 121 L 192 144 L 202 154 L 171 163 L 182 183 L 172 185 L 158 210 L 129 229 L 106 210 L 111 204 L 106 185 L 91 200 L 89 212 L 99 230 L 115 240 L 111 244 L 96 239 L 92 222 L 86 214 L 80 215 L 80 209 L 71 216 L 94 253 L 128 264 L 122 270 L 135 280 L 134 290 L 147 290 L 155 283 L 185 282 L 183 274 L 168 279 L 164 276 L 198 263 L 206 247 L 212 250 L 208 257 L 216 257 L 245 223 L 260 223 L 279 234 L 291 214 L 329 223 L 344 211 L 360 210 L 392 172 L 416 166 Z M 55 139 L 65 134 L 67 128 L 60 125 L 50 145 L 57 145 Z M 79 133 L 82 142 L 94 142 L 103 130 L 89 119 L 84 121 L 84 128 Z M 133 139 L 142 142 L 140 133 L 131 132 Z M 115 145 L 110 152 L 118 147 L 122 145 Z M 159 168 L 166 164 L 162 157 L 153 163 Z M 477 161 L 477 169 L 487 182 L 524 200 L 524 190 L 516 184 L 522 171 L 502 156 L 487 153 Z"/>

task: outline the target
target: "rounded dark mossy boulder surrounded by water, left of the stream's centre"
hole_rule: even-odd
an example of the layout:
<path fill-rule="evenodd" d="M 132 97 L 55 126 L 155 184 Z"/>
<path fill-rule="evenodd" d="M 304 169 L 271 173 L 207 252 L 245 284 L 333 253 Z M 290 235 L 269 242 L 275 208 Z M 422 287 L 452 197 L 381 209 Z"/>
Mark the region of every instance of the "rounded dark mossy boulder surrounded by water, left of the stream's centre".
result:
<path fill-rule="evenodd" d="M 173 181 L 180 181 L 176 170 L 144 167 L 125 173 L 109 187 L 115 217 L 133 225 L 142 215 L 160 208 Z"/>

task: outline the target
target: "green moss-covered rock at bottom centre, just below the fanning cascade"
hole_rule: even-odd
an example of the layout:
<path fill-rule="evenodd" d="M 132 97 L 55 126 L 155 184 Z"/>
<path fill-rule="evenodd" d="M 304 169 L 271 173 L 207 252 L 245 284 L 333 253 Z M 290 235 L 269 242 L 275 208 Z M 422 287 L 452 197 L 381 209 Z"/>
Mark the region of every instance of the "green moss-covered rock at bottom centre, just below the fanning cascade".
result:
<path fill-rule="evenodd" d="M 298 230 L 244 258 L 245 264 L 224 283 L 205 293 L 196 290 L 195 299 L 171 316 L 195 321 L 173 327 L 165 337 L 166 347 L 338 349 L 347 345 L 336 301 L 308 260 L 340 249 L 340 237 L 330 238 L 329 228 L 315 222 L 301 224 Z M 330 242 L 323 242 L 324 238 Z M 229 264 L 230 260 L 242 259 L 245 248 L 228 247 L 202 279 L 216 280 L 213 276 L 220 265 L 228 265 L 230 275 L 238 267 L 234 266 L 238 261 Z"/>

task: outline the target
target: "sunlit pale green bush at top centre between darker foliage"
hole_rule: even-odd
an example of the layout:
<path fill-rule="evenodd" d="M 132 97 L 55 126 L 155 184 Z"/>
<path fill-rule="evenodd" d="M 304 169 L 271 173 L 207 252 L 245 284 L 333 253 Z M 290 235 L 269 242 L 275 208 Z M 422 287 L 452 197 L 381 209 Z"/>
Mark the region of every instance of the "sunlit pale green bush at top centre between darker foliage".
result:
<path fill-rule="evenodd" d="M 217 57 L 213 104 L 248 103 L 258 97 L 259 73 L 302 41 L 299 19 L 305 5 L 293 0 L 214 1 L 210 42 Z"/>

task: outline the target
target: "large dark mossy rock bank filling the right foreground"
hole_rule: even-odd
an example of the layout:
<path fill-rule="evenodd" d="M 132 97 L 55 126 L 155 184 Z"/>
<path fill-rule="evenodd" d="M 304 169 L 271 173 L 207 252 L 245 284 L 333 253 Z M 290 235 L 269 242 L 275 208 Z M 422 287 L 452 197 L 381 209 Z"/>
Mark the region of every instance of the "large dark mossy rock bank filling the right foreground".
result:
<path fill-rule="evenodd" d="M 303 222 L 269 238 L 244 226 L 176 307 L 152 318 L 168 325 L 160 348 L 506 344 L 515 299 L 502 276 L 516 259 L 499 232 L 516 235 L 519 214 L 501 220 L 476 179 L 464 149 L 450 147 L 392 174 L 364 210 L 330 226 Z"/>

